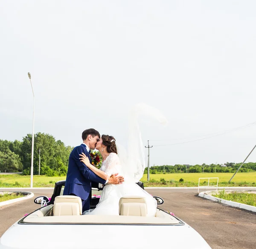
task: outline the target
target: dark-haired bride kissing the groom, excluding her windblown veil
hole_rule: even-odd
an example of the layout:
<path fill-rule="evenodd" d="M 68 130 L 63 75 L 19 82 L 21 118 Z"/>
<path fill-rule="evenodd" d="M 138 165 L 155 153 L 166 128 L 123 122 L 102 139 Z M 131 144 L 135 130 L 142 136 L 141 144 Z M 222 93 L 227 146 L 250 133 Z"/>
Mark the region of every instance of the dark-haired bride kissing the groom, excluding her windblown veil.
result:
<path fill-rule="evenodd" d="M 112 174 L 119 174 L 124 177 L 126 175 L 128 177 L 123 169 L 123 167 L 128 165 L 121 165 L 116 148 L 116 139 L 113 136 L 102 135 L 99 142 L 97 142 L 96 149 L 101 153 L 103 159 L 100 169 L 91 165 L 88 157 L 84 153 L 80 155 L 81 162 L 105 180 L 108 180 Z M 117 185 L 107 183 L 103 188 L 99 204 L 96 208 L 91 212 L 85 211 L 83 214 L 119 215 L 120 198 L 131 195 L 145 197 L 147 204 L 147 216 L 155 216 L 157 201 L 143 188 L 129 180 L 128 182 L 123 182 L 122 184 Z"/>

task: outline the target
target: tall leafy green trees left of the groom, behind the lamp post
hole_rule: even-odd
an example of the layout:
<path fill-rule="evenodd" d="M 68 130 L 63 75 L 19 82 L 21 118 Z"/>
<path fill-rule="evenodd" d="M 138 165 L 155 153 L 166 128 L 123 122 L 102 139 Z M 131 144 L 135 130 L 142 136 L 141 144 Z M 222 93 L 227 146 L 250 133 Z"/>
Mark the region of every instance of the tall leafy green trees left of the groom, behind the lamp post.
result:
<path fill-rule="evenodd" d="M 23 172 L 30 174 L 32 134 L 27 134 L 22 141 L 14 142 L 0 139 L 0 171 Z M 65 146 L 61 140 L 55 140 L 52 135 L 36 133 L 34 137 L 33 174 L 39 172 L 47 176 L 64 176 L 70 152 L 73 147 Z"/>

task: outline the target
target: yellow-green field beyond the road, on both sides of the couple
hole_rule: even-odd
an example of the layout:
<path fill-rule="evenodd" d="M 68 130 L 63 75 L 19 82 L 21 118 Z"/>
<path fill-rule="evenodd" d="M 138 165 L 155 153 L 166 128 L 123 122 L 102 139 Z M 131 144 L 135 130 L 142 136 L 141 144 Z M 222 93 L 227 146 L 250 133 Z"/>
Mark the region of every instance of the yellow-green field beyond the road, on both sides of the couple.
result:
<path fill-rule="evenodd" d="M 218 177 L 219 178 L 219 185 L 226 186 L 227 182 L 233 176 L 233 173 L 181 173 L 181 174 L 151 174 L 150 180 L 159 181 L 160 178 L 164 178 L 167 181 L 167 184 L 159 183 L 149 183 L 146 182 L 147 175 L 144 175 L 141 179 L 146 186 L 197 186 L 198 185 L 198 178 L 201 177 Z M 180 183 L 180 178 L 183 178 L 184 182 Z M 66 177 L 45 177 L 45 176 L 38 176 L 34 175 L 33 177 L 33 187 L 54 187 L 55 182 L 60 180 L 65 180 Z M 170 183 L 170 181 L 174 180 L 174 183 Z M 203 182 L 208 182 L 207 179 L 202 179 L 202 184 L 205 185 Z M 210 179 L 211 182 L 216 182 L 216 179 Z M 221 182 L 223 182 L 221 184 Z M 232 180 L 233 185 L 240 186 L 242 183 L 243 186 L 256 186 L 256 172 L 251 173 L 237 173 L 236 176 Z M 237 183 L 237 184 L 236 184 Z M 0 187 L 8 188 L 8 187 L 30 187 L 30 176 L 21 176 L 19 174 L 12 174 L 12 175 L 0 175 Z"/>

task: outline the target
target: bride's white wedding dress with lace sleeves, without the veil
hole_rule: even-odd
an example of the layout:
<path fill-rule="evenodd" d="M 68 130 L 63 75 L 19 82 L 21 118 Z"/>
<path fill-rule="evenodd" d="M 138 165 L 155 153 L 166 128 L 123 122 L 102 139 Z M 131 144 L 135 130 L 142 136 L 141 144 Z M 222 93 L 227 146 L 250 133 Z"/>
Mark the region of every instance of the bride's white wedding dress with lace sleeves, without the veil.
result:
<path fill-rule="evenodd" d="M 110 153 L 102 162 L 100 170 L 104 171 L 109 177 L 118 173 L 124 176 L 119 157 L 116 153 Z M 124 179 L 125 180 L 125 179 Z M 147 205 L 147 216 L 154 217 L 157 209 L 157 201 L 143 188 L 134 182 L 123 182 L 122 184 L 106 184 L 102 190 L 99 204 L 93 211 L 85 211 L 87 215 L 119 215 L 119 200 L 123 196 L 142 196 L 145 197 Z"/>

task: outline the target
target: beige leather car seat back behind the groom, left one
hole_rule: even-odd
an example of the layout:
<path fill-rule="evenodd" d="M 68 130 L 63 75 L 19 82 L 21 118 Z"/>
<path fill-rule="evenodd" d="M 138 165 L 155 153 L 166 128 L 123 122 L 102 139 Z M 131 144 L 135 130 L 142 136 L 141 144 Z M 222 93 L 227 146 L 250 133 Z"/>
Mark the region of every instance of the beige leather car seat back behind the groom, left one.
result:
<path fill-rule="evenodd" d="M 55 197 L 53 205 L 53 215 L 81 215 L 82 201 L 78 196 L 60 195 Z"/>

